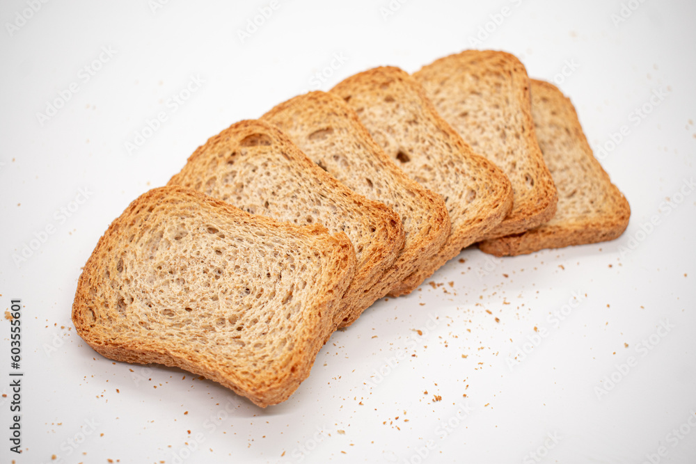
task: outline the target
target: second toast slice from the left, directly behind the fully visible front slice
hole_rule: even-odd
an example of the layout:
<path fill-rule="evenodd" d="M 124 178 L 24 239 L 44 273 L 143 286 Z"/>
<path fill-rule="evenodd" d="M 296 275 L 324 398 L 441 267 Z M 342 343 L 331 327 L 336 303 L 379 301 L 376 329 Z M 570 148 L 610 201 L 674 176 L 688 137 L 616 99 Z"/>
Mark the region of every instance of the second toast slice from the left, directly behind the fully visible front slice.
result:
<path fill-rule="evenodd" d="M 237 122 L 210 138 L 168 185 L 190 187 L 251 214 L 345 232 L 358 265 L 337 327 L 349 325 L 384 296 L 374 284 L 404 246 L 392 209 L 348 189 L 267 122 Z"/>

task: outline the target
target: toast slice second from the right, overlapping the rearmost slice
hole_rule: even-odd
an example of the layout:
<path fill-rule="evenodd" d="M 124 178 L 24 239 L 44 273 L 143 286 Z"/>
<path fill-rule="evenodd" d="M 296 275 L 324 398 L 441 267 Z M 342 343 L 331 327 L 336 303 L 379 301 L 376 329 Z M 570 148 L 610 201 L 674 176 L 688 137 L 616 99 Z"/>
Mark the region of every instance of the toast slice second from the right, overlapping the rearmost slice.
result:
<path fill-rule="evenodd" d="M 553 217 L 557 194 L 539 150 L 524 65 L 503 51 L 466 50 L 413 74 L 438 113 L 512 182 L 514 206 L 487 238 L 517 234 Z"/>

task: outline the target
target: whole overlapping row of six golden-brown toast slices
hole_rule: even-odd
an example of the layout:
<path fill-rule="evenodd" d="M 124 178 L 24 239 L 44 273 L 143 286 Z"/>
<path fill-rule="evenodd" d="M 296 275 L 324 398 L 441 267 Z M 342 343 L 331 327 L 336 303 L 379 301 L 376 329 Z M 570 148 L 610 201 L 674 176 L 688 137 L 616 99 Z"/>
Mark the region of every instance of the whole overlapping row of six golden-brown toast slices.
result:
<path fill-rule="evenodd" d="M 266 407 L 383 296 L 477 243 L 612 240 L 631 209 L 570 100 L 502 51 L 377 67 L 237 122 L 132 202 L 84 266 L 79 335 Z"/>

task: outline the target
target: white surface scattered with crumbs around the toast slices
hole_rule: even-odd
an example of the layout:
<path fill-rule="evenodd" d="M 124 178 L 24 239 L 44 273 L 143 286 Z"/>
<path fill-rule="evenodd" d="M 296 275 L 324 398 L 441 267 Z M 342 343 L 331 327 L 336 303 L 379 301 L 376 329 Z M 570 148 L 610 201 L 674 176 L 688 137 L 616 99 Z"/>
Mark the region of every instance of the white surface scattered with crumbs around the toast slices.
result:
<path fill-rule="evenodd" d="M 8 0 L 0 19 L 0 309 L 22 299 L 24 372 L 17 455 L 1 319 L 0 462 L 696 462 L 693 1 Z M 472 47 L 571 97 L 631 204 L 621 238 L 465 250 L 335 333 L 265 410 L 77 336 L 97 240 L 208 137 L 355 72 Z"/>

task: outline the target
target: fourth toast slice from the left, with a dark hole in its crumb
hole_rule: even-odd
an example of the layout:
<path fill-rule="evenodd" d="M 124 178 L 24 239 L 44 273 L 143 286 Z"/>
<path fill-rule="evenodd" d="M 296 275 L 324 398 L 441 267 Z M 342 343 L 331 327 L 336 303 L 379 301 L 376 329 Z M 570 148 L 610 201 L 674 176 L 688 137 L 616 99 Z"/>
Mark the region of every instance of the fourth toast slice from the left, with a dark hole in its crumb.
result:
<path fill-rule="evenodd" d="M 445 200 L 450 237 L 404 287 L 422 282 L 462 248 L 486 237 L 512 208 L 507 177 L 474 154 L 406 72 L 377 67 L 345 79 L 331 93 L 356 111 L 374 141 L 409 177 Z"/>

